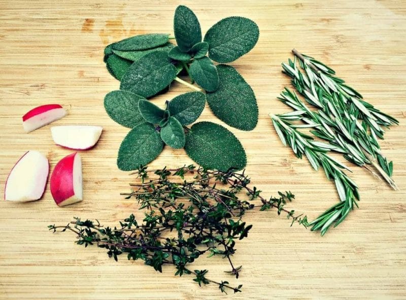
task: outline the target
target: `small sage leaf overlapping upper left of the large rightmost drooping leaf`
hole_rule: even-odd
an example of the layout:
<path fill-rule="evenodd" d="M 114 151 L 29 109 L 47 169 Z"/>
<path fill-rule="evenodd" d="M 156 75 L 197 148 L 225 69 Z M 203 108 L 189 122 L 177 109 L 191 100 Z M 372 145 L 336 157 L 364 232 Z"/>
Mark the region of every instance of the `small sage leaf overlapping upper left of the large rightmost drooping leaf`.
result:
<path fill-rule="evenodd" d="M 217 68 L 207 56 L 195 59 L 190 65 L 189 74 L 206 91 L 213 92 L 219 86 Z"/>

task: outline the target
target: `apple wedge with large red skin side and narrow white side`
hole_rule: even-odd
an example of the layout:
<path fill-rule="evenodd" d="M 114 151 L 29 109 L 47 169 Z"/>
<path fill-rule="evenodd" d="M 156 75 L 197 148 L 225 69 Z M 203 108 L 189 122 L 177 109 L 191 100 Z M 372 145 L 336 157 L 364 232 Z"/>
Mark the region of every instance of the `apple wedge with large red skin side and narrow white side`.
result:
<path fill-rule="evenodd" d="M 72 153 L 58 161 L 51 175 L 50 188 L 58 206 L 83 200 L 82 160 L 79 153 Z"/>

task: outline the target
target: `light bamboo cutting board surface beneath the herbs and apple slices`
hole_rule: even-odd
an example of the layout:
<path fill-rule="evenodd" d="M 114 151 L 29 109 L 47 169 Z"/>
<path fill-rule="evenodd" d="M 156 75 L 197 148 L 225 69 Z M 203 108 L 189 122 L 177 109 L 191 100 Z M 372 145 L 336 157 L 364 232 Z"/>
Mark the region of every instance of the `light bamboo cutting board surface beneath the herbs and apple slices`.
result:
<path fill-rule="evenodd" d="M 123 199 L 131 177 L 116 167 L 117 150 L 128 129 L 106 114 L 103 99 L 118 89 L 107 72 L 103 49 L 113 41 L 152 32 L 170 32 L 177 5 L 189 6 L 205 32 L 232 15 L 253 19 L 260 28 L 256 47 L 232 63 L 254 89 L 258 126 L 251 132 L 231 128 L 248 155 L 247 174 L 266 196 L 291 190 L 289 208 L 310 219 L 338 201 L 334 185 L 308 161 L 282 146 L 267 114 L 289 109 L 276 97 L 289 79 L 280 63 L 290 50 L 319 58 L 399 126 L 382 141 L 394 162 L 400 191 L 350 165 L 360 187 L 359 209 L 325 237 L 276 212 L 250 212 L 254 226 L 234 255 L 243 265 L 236 280 L 221 258 L 202 258 L 215 280 L 243 284 L 243 293 L 221 294 L 214 285 L 199 288 L 175 277 L 165 266 L 156 273 L 142 261 L 118 262 L 103 249 L 74 244 L 75 236 L 52 234 L 47 225 L 74 216 L 97 218 L 107 225 L 135 213 Z M 59 208 L 47 186 L 37 202 L 0 203 L 1 299 L 405 299 L 406 298 L 406 3 L 399 1 L 0 1 L 0 185 L 26 150 L 45 154 L 51 165 L 72 151 L 54 145 L 50 126 L 25 134 L 21 116 L 32 107 L 59 103 L 69 115 L 53 123 L 104 127 L 97 146 L 82 151 L 84 201 Z M 188 91 L 175 83 L 165 99 Z M 221 123 L 207 107 L 200 120 Z M 51 126 L 52 126 L 51 125 Z M 224 124 L 223 124 L 224 125 Z M 190 163 L 184 150 L 165 149 L 151 163 Z"/>

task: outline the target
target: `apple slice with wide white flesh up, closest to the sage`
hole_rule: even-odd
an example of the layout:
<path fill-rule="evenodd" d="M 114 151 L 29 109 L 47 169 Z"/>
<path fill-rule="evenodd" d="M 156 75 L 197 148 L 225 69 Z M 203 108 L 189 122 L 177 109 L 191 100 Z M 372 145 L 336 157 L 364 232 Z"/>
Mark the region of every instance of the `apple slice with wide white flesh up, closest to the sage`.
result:
<path fill-rule="evenodd" d="M 64 125 L 51 128 L 52 139 L 56 145 L 86 150 L 92 148 L 98 141 L 103 127 L 90 125 Z"/>

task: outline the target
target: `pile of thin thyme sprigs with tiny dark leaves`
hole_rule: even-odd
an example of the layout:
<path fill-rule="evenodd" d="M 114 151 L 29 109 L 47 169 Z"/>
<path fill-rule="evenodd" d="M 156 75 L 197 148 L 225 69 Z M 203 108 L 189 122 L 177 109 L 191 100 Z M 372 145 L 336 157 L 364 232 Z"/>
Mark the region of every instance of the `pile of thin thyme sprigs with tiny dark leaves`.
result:
<path fill-rule="evenodd" d="M 232 261 L 235 245 L 252 228 L 242 218 L 257 207 L 260 211 L 275 208 L 292 224 L 308 224 L 306 216 L 295 216 L 293 210 L 284 208 L 294 198 L 291 192 L 265 199 L 260 190 L 249 187 L 244 171 L 211 171 L 189 165 L 172 170 L 141 167 L 135 174 L 138 182 L 123 195 L 135 197 L 140 209 L 148 210 L 142 224 L 131 214 L 114 228 L 101 226 L 97 220 L 75 218 L 65 226 L 49 225 L 49 230 L 71 230 L 78 237 L 77 244 L 96 244 L 115 260 L 126 253 L 128 260 L 144 260 L 159 272 L 162 265 L 172 264 L 176 276 L 191 274 L 199 285 L 213 283 L 222 292 L 241 292 L 242 285 L 233 287 L 225 280 L 211 280 L 208 270 L 193 270 L 191 264 L 201 255 L 221 256 L 230 265 L 226 273 L 238 278 L 242 266 Z M 257 206 L 254 202 L 258 200 Z"/>

